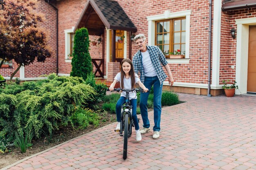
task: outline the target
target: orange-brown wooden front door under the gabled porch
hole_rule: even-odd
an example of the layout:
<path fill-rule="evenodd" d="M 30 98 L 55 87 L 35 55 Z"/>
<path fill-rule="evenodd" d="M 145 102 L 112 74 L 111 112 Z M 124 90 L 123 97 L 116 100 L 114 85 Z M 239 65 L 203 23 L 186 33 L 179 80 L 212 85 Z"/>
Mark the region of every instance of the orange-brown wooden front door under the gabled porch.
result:
<path fill-rule="evenodd" d="M 112 44 L 112 34 L 110 31 L 110 56 L 112 56 L 111 44 Z M 124 36 L 124 31 L 116 30 L 116 62 L 121 62 L 124 59 L 124 41 L 118 41 L 122 36 Z"/>

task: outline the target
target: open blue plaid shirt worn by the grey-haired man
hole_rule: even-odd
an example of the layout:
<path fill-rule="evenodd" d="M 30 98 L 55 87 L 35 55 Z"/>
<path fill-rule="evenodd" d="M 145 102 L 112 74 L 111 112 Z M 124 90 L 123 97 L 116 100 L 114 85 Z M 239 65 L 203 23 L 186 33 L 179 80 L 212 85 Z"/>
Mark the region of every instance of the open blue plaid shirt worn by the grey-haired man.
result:
<path fill-rule="evenodd" d="M 147 49 L 148 49 L 148 53 L 150 55 L 150 60 L 154 67 L 155 73 L 157 74 L 160 84 L 162 84 L 164 82 L 164 80 L 166 79 L 167 75 L 164 73 L 164 70 L 163 70 L 160 62 L 162 63 L 163 66 L 168 64 L 168 62 L 158 46 L 147 46 Z M 144 83 L 145 74 L 144 74 L 144 68 L 143 68 L 143 64 L 142 64 L 142 55 L 141 55 L 140 50 L 137 51 L 137 53 L 133 56 L 132 65 L 134 67 L 134 71 L 136 74 L 138 74 L 138 72 L 140 72 L 141 82 Z"/>

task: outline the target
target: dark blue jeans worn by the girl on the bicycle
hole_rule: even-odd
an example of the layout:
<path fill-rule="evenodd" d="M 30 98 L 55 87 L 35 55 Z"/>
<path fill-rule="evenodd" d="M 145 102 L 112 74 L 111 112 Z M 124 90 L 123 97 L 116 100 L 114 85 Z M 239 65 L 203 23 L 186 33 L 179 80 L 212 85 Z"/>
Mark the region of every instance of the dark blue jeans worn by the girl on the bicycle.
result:
<path fill-rule="evenodd" d="M 121 122 L 121 106 L 125 104 L 125 97 L 121 96 L 116 104 L 117 121 Z M 136 114 L 137 110 L 137 99 L 131 99 L 130 104 L 132 105 L 132 120 L 134 122 L 135 130 L 139 130 L 139 122 Z"/>

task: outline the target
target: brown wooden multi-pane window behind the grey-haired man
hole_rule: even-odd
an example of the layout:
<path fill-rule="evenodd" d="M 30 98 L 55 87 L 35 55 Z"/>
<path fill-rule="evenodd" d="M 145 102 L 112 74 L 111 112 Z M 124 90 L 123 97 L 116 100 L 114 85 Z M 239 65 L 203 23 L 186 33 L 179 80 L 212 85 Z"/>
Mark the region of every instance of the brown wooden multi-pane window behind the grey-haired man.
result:
<path fill-rule="evenodd" d="M 156 21 L 155 44 L 163 53 L 186 51 L 186 18 Z"/>

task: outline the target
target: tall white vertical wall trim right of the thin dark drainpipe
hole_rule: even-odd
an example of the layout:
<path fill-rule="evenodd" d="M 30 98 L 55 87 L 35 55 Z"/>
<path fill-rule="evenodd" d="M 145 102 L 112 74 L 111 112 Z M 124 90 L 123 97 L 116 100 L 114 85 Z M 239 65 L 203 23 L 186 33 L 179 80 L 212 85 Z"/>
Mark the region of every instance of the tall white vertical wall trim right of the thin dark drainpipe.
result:
<path fill-rule="evenodd" d="M 220 85 L 220 26 L 221 1 L 214 1 L 213 7 L 213 53 L 212 53 L 212 79 L 211 86 Z"/>

